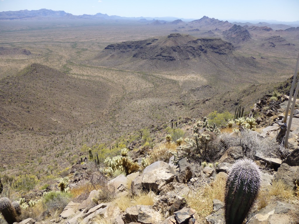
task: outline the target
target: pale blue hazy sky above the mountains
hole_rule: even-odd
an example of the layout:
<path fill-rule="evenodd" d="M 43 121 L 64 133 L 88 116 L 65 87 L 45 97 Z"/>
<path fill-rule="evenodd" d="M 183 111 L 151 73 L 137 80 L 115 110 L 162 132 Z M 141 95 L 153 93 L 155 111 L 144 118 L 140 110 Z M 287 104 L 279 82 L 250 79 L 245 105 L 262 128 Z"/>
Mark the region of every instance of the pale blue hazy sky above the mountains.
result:
<path fill-rule="evenodd" d="M 0 0 L 0 11 L 42 8 L 73 15 L 106 13 L 126 17 L 299 20 L 299 0 Z"/>

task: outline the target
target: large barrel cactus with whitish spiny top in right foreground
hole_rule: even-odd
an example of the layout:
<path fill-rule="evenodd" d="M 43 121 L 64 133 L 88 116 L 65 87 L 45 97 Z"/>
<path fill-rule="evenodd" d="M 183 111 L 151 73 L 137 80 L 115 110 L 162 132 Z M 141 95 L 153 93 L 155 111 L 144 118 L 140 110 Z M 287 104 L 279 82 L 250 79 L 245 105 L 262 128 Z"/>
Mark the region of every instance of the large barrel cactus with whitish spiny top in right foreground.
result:
<path fill-rule="evenodd" d="M 238 159 L 228 174 L 225 192 L 226 224 L 242 224 L 261 185 L 258 166 L 251 159 Z"/>

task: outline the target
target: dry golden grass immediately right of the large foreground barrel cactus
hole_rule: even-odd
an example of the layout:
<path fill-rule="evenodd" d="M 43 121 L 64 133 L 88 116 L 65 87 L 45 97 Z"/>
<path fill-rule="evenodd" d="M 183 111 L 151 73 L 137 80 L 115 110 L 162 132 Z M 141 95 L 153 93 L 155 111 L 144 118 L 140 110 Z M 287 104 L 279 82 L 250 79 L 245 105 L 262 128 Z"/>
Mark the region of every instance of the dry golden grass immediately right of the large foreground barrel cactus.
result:
<path fill-rule="evenodd" d="M 265 208 L 271 201 L 284 201 L 298 204 L 298 198 L 290 186 L 285 185 L 281 180 L 274 181 L 271 186 L 262 188 L 257 196 L 257 209 Z"/>

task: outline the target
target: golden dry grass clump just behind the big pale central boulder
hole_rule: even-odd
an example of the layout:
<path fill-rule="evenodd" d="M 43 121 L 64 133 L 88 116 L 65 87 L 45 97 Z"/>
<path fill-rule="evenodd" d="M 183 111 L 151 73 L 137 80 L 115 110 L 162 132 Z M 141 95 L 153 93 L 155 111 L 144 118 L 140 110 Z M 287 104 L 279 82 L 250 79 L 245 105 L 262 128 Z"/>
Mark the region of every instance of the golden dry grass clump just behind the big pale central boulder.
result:
<path fill-rule="evenodd" d="M 149 155 L 149 163 L 156 161 L 168 162 L 173 153 L 176 152 L 177 145 L 174 142 L 167 142 L 154 148 Z"/>

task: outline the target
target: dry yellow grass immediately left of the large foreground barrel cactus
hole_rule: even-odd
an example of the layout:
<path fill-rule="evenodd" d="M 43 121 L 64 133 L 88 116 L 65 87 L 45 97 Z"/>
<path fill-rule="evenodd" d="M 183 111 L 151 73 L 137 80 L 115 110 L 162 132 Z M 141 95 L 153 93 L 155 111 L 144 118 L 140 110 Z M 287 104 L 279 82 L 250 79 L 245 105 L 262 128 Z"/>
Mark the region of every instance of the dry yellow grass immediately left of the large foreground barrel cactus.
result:
<path fill-rule="evenodd" d="M 187 204 L 198 214 L 202 223 L 207 223 L 205 219 L 213 211 L 213 199 L 224 201 L 225 177 L 216 177 L 211 185 L 206 185 L 199 191 L 191 191 L 186 197 Z"/>

